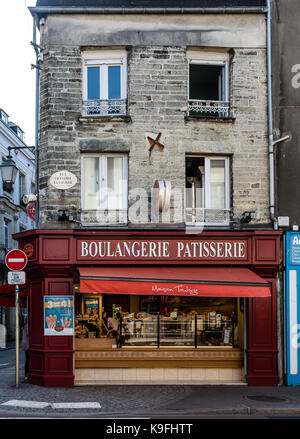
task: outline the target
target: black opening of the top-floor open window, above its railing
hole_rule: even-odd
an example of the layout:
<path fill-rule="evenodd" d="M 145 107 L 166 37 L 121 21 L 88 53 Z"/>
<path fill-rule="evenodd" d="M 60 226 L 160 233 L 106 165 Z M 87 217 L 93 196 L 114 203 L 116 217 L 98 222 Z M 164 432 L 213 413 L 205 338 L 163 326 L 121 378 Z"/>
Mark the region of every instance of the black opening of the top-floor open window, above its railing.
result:
<path fill-rule="evenodd" d="M 190 99 L 222 100 L 222 66 L 190 64 Z"/>

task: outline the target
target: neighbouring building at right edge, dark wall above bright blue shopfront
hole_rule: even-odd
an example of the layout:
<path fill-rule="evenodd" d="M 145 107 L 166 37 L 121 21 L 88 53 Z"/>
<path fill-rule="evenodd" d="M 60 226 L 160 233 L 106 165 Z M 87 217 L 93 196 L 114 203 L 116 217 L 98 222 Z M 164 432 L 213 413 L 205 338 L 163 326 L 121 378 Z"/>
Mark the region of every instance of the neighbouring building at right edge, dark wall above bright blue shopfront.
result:
<path fill-rule="evenodd" d="M 285 330 L 285 377 L 289 385 L 300 384 L 299 276 L 300 276 L 300 4 L 297 0 L 272 1 L 272 76 L 275 138 L 290 136 L 276 147 L 277 214 L 283 217 L 283 296 Z"/>

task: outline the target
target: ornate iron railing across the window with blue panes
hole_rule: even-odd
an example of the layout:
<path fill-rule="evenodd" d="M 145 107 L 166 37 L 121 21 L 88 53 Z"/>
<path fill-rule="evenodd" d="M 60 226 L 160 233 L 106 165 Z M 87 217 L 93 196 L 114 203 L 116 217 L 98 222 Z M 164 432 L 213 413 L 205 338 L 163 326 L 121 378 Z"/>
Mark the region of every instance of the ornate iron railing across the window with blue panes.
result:
<path fill-rule="evenodd" d="M 83 116 L 126 116 L 126 99 L 83 101 Z"/>

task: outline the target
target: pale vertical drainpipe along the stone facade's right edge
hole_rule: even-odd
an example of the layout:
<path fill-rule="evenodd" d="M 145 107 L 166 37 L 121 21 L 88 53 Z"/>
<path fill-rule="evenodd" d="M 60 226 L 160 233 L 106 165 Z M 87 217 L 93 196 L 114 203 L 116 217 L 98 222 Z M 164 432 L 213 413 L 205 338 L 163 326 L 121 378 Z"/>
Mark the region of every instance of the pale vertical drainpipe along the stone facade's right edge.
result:
<path fill-rule="evenodd" d="M 269 132 L 269 170 L 270 170 L 270 219 L 275 230 L 278 220 L 275 216 L 275 176 L 274 176 L 274 138 L 272 105 L 272 51 L 271 51 L 271 4 L 267 0 L 267 76 L 268 76 L 268 132 Z"/>

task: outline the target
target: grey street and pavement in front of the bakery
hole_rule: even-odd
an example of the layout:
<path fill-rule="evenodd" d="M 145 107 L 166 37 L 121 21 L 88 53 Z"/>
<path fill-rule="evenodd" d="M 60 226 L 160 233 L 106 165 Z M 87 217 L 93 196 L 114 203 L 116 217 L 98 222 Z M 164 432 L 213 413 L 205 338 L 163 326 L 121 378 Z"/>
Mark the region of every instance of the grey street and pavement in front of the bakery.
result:
<path fill-rule="evenodd" d="M 15 387 L 14 349 L 0 350 L 0 418 L 299 418 L 299 387 L 128 385 Z"/>

